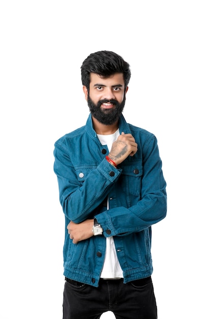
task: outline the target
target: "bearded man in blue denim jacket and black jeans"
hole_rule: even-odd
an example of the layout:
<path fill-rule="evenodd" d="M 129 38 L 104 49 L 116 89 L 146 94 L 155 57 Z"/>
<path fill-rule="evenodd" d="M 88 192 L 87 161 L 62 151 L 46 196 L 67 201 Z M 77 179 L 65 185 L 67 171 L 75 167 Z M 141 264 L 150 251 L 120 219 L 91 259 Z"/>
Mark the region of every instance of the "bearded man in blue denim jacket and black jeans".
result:
<path fill-rule="evenodd" d="M 151 226 L 166 216 L 156 137 L 122 111 L 129 64 L 111 51 L 85 59 L 86 125 L 55 143 L 54 172 L 66 222 L 64 319 L 156 319 Z"/>

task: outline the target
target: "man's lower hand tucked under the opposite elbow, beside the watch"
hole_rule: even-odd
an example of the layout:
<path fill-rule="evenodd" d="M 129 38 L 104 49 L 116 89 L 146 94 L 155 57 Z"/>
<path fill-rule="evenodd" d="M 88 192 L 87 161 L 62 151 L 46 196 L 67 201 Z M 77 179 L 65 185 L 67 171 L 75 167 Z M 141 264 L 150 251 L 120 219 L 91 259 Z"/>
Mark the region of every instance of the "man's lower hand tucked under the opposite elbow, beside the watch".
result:
<path fill-rule="evenodd" d="M 67 226 L 70 238 L 73 240 L 73 244 L 77 244 L 80 241 L 86 240 L 94 235 L 93 233 L 94 220 L 87 219 L 86 221 L 75 224 L 70 222 Z"/>

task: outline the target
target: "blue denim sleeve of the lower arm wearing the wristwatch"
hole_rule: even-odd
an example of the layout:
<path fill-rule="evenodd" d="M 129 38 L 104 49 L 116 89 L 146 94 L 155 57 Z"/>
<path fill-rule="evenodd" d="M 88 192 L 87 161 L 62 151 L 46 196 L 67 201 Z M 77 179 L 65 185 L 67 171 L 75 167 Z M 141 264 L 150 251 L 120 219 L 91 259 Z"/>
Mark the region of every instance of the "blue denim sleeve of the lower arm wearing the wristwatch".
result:
<path fill-rule="evenodd" d="M 166 181 L 162 172 L 157 139 L 154 135 L 145 142 L 142 157 L 141 199 L 129 208 L 115 207 L 96 216 L 98 223 L 104 229 L 105 236 L 139 232 L 166 217 Z"/>

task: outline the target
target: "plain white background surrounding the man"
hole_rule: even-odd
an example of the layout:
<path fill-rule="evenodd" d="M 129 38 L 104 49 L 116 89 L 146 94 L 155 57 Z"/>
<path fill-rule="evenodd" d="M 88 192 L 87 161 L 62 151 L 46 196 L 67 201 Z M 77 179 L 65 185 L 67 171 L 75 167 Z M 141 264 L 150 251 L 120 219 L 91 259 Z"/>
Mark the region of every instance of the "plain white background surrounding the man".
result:
<path fill-rule="evenodd" d="M 85 124 L 80 67 L 98 50 L 130 63 L 124 116 L 158 138 L 168 194 L 153 226 L 159 319 L 211 316 L 211 13 L 204 0 L 1 2 L 1 319 L 62 318 L 53 148 Z"/>

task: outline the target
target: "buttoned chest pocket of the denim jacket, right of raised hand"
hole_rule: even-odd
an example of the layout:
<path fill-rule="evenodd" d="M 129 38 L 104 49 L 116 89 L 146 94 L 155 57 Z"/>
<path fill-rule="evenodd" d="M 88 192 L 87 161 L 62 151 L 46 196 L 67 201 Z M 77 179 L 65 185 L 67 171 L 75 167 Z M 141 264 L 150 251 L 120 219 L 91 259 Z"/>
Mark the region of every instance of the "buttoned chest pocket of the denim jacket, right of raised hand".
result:
<path fill-rule="evenodd" d="M 141 161 L 123 163 L 122 176 L 120 179 L 120 187 L 128 195 L 135 197 L 141 196 L 141 181 L 143 175 L 143 167 Z"/>

